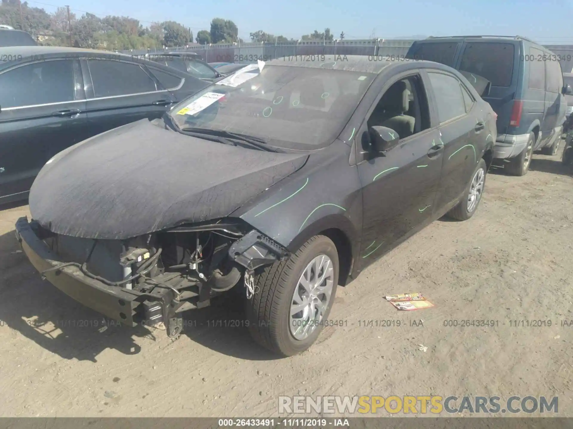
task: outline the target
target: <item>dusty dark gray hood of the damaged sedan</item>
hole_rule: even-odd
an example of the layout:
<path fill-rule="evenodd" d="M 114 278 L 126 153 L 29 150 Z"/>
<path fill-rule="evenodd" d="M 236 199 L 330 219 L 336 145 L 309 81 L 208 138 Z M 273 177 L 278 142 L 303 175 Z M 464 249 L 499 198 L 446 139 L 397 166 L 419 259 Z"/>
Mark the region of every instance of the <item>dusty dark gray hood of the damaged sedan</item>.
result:
<path fill-rule="evenodd" d="M 202 140 L 143 120 L 48 161 L 30 189 L 30 213 L 58 234 L 127 239 L 228 216 L 307 158 Z"/>

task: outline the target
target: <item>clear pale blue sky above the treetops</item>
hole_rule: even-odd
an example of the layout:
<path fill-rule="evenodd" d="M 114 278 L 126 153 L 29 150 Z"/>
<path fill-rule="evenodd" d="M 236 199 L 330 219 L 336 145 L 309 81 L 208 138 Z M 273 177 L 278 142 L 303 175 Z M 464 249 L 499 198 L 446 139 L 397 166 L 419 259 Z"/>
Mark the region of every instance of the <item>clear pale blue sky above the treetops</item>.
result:
<path fill-rule="evenodd" d="M 379 38 L 411 35 L 501 34 L 523 35 L 536 41 L 573 43 L 573 0 L 28 0 L 30 6 L 54 11 L 67 4 L 77 17 L 125 15 L 143 25 L 177 21 L 193 34 L 209 30 L 211 19 L 231 19 L 245 41 L 263 30 L 300 38 L 329 27 L 335 37 Z M 42 4 L 44 3 L 44 4 Z M 48 3 L 48 6 L 46 5 Z"/>

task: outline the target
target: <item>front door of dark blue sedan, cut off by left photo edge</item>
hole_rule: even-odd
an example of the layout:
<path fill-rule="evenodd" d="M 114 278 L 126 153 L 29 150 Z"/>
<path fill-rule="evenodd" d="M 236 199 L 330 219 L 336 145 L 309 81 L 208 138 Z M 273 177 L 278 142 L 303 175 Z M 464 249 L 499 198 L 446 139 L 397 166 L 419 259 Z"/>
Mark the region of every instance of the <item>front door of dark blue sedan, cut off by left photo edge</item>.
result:
<path fill-rule="evenodd" d="M 26 198 L 46 161 L 83 140 L 87 120 L 77 59 L 17 65 L 0 88 L 1 204 Z"/>

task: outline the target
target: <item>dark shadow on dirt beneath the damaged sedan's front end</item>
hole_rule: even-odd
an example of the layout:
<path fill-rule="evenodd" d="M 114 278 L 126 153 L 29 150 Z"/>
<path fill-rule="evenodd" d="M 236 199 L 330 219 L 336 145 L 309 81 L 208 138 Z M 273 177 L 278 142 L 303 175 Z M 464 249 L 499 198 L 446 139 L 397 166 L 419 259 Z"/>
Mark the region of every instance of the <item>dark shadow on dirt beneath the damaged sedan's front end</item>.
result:
<path fill-rule="evenodd" d="M 12 339 L 25 336 L 63 359 L 97 362 L 97 355 L 108 348 L 136 355 L 142 351 L 140 344 L 158 347 L 156 341 L 166 335 L 160 329 L 132 328 L 107 319 L 41 280 L 14 231 L 0 236 L 0 295 L 0 329 L 11 329 Z M 184 313 L 182 335 L 236 358 L 276 359 L 250 338 L 239 298 L 230 294 L 213 300 L 211 307 Z"/>

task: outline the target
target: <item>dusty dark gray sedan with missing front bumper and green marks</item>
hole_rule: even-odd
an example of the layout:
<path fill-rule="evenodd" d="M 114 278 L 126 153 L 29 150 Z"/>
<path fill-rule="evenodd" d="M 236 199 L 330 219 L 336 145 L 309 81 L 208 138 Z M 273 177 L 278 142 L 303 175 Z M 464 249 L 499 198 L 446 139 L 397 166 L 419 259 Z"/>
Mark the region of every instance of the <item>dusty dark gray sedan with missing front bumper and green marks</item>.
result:
<path fill-rule="evenodd" d="M 170 337 L 238 291 L 258 343 L 310 347 L 337 285 L 445 213 L 473 215 L 495 141 L 489 105 L 450 67 L 323 57 L 247 66 L 58 153 L 16 225 L 34 267 Z M 459 90 L 439 100 L 433 85 Z"/>

